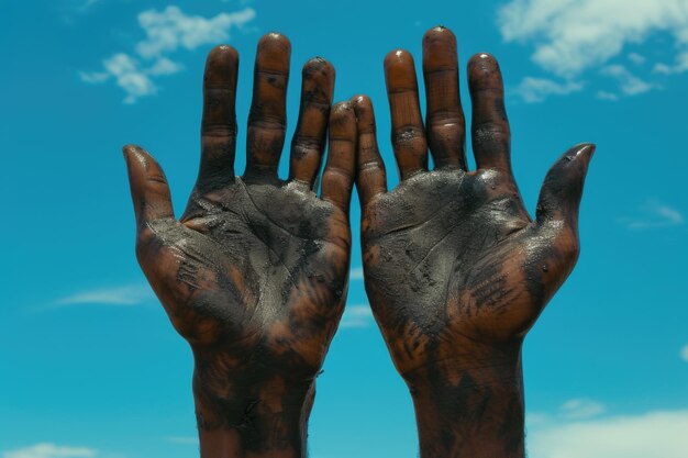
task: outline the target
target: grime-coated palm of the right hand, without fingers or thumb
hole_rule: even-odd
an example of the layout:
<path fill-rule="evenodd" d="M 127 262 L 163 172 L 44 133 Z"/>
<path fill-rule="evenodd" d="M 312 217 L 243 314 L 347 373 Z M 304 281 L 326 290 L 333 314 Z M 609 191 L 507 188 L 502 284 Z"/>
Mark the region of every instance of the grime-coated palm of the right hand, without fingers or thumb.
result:
<path fill-rule="evenodd" d="M 448 356 L 462 340 L 524 333 L 546 300 L 543 267 L 575 260 L 546 259 L 551 241 L 539 242 L 518 192 L 495 182 L 498 174 L 426 172 L 365 210 L 366 288 L 402 372 L 430 357 L 406 353 L 409 342 Z"/>

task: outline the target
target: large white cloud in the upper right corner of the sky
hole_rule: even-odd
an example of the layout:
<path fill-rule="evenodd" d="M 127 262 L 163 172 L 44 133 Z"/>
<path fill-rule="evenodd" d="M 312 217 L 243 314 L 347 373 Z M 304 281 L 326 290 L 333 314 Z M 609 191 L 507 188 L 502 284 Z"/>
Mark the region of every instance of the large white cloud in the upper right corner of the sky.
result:
<path fill-rule="evenodd" d="M 658 88 L 621 64 L 609 65 L 623 57 L 625 46 L 643 43 L 654 33 L 672 36 L 674 62 L 653 63 L 654 71 L 646 70 L 647 77 L 688 71 L 688 0 L 511 0 L 498 10 L 497 22 L 504 41 L 533 44 L 533 62 L 551 75 L 544 88 L 552 89 L 539 97 L 522 92 L 526 102 L 573 93 L 557 88 L 579 85 L 586 76 L 603 76 L 615 83 L 615 91 L 602 91 L 601 97 L 598 92 L 606 100 Z M 636 71 L 647 59 L 637 53 L 626 53 L 625 58 Z M 600 66 L 602 71 L 589 74 Z"/>

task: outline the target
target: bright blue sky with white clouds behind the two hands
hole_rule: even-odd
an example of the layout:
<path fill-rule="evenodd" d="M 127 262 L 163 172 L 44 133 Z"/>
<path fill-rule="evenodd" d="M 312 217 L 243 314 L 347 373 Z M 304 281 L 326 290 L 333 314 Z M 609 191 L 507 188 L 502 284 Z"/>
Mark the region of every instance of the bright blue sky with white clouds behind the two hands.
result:
<path fill-rule="evenodd" d="M 213 45 L 241 55 L 238 145 L 256 42 L 280 31 L 293 49 L 290 127 L 299 69 L 322 55 L 335 99 L 373 98 L 393 170 L 382 58 L 403 47 L 419 63 L 423 32 L 444 24 L 462 65 L 484 51 L 500 60 L 531 210 L 562 152 L 598 145 L 580 260 L 525 344 L 531 456 L 685 458 L 688 0 L 408 4 L 0 1 L 0 457 L 197 456 L 190 353 L 136 265 L 120 150 L 158 158 L 180 212 Z M 310 456 L 414 457 L 411 401 L 363 290 L 356 200 L 352 220 L 347 312 L 318 380 Z"/>

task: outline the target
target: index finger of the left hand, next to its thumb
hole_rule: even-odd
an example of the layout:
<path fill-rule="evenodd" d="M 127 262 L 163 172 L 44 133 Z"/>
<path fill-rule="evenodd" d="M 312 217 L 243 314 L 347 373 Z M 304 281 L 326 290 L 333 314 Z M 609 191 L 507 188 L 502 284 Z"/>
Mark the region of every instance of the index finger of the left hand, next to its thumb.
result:
<path fill-rule="evenodd" d="M 218 46 L 208 55 L 203 75 L 201 165 L 196 183 L 201 193 L 234 178 L 237 69 L 238 54 L 231 46 Z"/>

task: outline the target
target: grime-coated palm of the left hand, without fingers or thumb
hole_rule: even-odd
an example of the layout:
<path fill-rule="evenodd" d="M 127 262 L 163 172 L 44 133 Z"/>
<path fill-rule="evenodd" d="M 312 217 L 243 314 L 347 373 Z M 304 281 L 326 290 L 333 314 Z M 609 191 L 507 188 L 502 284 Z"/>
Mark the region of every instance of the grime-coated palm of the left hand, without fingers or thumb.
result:
<path fill-rule="evenodd" d="M 193 237 L 210 245 L 180 258 L 189 266 L 186 270 L 197 271 L 201 256 L 215 257 L 203 259 L 201 269 L 212 271 L 217 264 L 226 267 L 200 298 L 189 300 L 191 309 L 199 309 L 196 302 L 209 309 L 223 338 L 273 339 L 293 321 L 301 322 L 298 329 L 306 333 L 333 331 L 312 324 L 329 323 L 328 315 L 341 312 L 331 304 L 340 302 L 346 288 L 348 220 L 335 205 L 296 187 L 246 185 L 236 179 L 218 200 L 192 199 L 181 224 L 202 234 Z M 187 244 L 197 245 L 200 242 Z M 208 298 L 209 290 L 219 295 L 217 300 Z M 303 344 L 308 346 L 313 336 L 300 337 L 307 338 Z"/>

